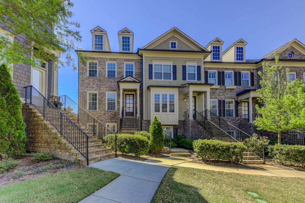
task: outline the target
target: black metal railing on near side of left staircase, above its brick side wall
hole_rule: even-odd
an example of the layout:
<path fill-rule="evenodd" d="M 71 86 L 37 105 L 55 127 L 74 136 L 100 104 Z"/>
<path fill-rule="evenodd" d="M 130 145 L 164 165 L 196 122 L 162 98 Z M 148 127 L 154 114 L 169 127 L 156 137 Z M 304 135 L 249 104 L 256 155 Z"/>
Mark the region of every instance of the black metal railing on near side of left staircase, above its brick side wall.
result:
<path fill-rule="evenodd" d="M 33 86 L 25 87 L 25 103 L 33 105 L 59 131 L 60 135 L 84 156 L 87 160 L 87 166 L 89 165 L 88 139 L 90 137 L 81 128 Z"/>

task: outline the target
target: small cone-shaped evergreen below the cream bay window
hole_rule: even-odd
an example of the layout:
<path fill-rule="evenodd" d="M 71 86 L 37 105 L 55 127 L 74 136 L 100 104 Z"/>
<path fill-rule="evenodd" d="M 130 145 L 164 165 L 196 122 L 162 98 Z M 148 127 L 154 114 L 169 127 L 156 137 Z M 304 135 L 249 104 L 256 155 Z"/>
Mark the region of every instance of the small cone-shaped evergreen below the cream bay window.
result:
<path fill-rule="evenodd" d="M 149 152 L 159 153 L 164 147 L 164 135 L 161 121 L 158 121 L 157 117 L 153 118 L 149 126 L 150 134 L 150 143 L 149 143 Z"/>

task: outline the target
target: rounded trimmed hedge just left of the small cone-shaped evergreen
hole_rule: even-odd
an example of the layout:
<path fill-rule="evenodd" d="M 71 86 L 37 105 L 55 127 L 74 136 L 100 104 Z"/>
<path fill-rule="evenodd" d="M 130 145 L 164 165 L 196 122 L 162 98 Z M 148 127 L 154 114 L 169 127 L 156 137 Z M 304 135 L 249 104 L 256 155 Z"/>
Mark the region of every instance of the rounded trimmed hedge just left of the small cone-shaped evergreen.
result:
<path fill-rule="evenodd" d="M 117 135 L 117 150 L 122 154 L 141 156 L 149 151 L 149 141 L 141 135 L 119 134 Z"/>

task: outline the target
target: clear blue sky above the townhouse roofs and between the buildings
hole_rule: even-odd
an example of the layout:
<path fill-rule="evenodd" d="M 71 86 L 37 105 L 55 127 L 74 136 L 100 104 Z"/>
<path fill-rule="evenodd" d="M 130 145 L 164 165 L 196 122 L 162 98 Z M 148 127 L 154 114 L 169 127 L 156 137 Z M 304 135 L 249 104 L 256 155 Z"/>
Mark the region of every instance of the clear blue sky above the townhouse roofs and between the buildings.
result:
<path fill-rule="evenodd" d="M 91 50 L 90 30 L 98 25 L 107 31 L 111 51 L 119 51 L 117 32 L 124 27 L 135 33 L 134 51 L 174 26 L 203 46 L 219 37 L 223 50 L 242 38 L 248 42 L 246 59 L 261 58 L 294 38 L 305 43 L 305 1 L 300 0 L 73 2 L 71 20 L 81 24 L 78 45 L 86 50 Z M 59 95 L 77 102 L 77 92 L 78 72 L 60 68 Z"/>

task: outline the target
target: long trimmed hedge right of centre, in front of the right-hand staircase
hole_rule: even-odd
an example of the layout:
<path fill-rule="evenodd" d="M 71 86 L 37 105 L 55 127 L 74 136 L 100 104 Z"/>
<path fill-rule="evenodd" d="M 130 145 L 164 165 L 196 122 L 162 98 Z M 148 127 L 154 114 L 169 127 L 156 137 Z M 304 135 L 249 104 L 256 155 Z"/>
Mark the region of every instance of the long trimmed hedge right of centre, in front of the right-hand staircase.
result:
<path fill-rule="evenodd" d="M 196 156 L 203 160 L 227 160 L 242 162 L 242 153 L 247 149 L 239 142 L 222 142 L 219 140 L 195 140 Z"/>

